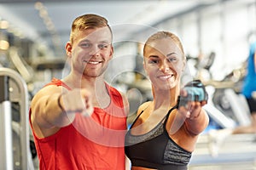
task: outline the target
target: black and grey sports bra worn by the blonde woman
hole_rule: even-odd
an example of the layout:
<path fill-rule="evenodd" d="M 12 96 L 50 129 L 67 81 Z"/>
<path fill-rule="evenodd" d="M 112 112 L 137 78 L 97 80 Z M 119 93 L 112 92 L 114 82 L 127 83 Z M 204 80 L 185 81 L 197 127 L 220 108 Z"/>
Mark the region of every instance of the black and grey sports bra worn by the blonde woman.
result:
<path fill-rule="evenodd" d="M 160 170 L 187 170 L 191 152 L 177 145 L 166 131 L 166 122 L 170 113 L 151 131 L 142 135 L 132 135 L 129 130 L 125 135 L 125 154 L 131 160 L 131 165 Z M 143 111 L 140 113 L 139 116 Z M 139 117 L 137 116 L 137 118 Z M 137 118 L 134 122 L 137 121 Z M 134 125 L 132 123 L 131 127 Z"/>

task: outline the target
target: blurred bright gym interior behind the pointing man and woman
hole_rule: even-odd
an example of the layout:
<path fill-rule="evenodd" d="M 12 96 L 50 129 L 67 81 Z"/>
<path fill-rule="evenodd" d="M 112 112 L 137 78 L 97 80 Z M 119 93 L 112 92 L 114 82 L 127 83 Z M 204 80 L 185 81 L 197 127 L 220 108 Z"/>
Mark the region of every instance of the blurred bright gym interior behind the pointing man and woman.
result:
<path fill-rule="evenodd" d="M 0 92 L 2 97 L 9 94 L 9 105 L 0 97 L 0 164 L 38 168 L 26 117 L 29 103 L 52 77 L 69 71 L 65 44 L 72 21 L 88 13 L 106 17 L 113 29 L 114 54 L 106 80 L 128 96 L 129 124 L 138 105 L 152 99 L 142 65 L 143 42 L 155 31 L 172 31 L 188 60 L 183 82 L 200 78 L 209 94 L 205 109 L 210 124 L 189 169 L 256 169 L 254 134 L 231 135 L 219 146 L 218 156 L 212 156 L 208 137 L 211 129 L 250 123 L 241 86 L 249 47 L 256 41 L 256 0 L 0 0 Z M 11 127 L 5 122 L 7 112 Z"/>

